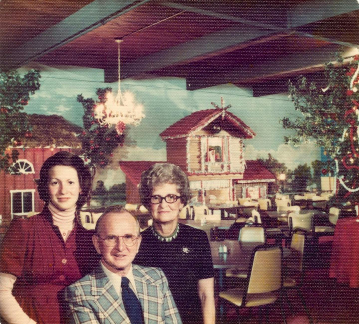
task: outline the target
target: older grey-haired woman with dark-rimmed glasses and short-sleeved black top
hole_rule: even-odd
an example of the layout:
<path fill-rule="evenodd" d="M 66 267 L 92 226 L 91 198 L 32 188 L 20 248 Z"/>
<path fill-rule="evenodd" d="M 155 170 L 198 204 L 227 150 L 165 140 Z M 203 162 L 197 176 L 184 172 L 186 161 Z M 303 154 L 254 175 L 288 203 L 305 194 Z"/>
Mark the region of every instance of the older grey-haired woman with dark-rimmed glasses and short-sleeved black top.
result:
<path fill-rule="evenodd" d="M 157 163 L 143 172 L 139 190 L 153 225 L 141 233 L 134 263 L 163 270 L 183 323 L 215 323 L 213 263 L 207 235 L 178 223 L 190 197 L 186 174 L 171 163 Z"/>

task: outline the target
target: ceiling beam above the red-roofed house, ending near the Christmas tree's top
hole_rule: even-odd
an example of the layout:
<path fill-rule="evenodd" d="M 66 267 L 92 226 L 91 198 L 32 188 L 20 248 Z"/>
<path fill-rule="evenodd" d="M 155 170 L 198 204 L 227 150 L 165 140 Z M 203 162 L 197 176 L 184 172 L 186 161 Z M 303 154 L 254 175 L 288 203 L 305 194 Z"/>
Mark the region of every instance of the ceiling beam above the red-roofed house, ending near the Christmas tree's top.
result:
<path fill-rule="evenodd" d="M 320 70 L 323 65 L 332 60 L 332 53 L 337 46 L 326 46 L 310 49 L 300 53 L 290 54 L 271 61 L 263 61 L 256 65 L 237 66 L 222 73 L 209 73 L 206 76 L 192 75 L 187 77 L 187 90 L 197 90 L 220 84 L 253 84 L 267 78 L 281 78 L 281 75 L 304 74 L 309 71 Z M 351 57 L 358 53 L 358 49 L 345 49 L 344 57 Z"/>

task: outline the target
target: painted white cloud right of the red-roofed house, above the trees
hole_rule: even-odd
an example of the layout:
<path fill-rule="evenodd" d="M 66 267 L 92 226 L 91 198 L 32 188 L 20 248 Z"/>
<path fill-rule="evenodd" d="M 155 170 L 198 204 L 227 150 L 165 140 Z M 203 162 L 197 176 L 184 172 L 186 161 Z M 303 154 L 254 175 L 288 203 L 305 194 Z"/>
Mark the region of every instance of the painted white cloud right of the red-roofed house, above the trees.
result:
<path fill-rule="evenodd" d="M 318 159 L 320 160 L 320 148 L 314 146 L 313 142 L 308 144 L 301 144 L 298 147 L 292 147 L 286 144 L 280 144 L 276 150 L 270 149 L 257 150 L 252 145 L 246 145 L 244 158 L 246 160 L 255 160 L 257 158 L 268 158 L 268 153 L 276 158 L 279 162 L 294 170 L 298 165 L 311 165 L 311 162 Z"/>

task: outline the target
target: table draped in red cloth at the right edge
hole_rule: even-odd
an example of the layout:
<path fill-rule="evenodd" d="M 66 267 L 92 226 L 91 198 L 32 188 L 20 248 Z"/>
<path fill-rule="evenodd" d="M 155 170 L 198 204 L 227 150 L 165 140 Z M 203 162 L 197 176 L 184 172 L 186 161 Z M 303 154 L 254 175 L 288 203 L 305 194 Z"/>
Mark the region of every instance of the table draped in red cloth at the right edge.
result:
<path fill-rule="evenodd" d="M 335 226 L 329 277 L 359 287 L 359 219 L 342 218 Z"/>

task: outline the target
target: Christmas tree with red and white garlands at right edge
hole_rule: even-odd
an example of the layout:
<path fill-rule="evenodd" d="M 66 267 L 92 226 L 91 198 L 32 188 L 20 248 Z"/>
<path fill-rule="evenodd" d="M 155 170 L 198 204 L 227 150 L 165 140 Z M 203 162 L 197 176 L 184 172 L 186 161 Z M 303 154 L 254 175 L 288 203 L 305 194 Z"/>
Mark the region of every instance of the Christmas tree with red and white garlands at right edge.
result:
<path fill-rule="evenodd" d="M 290 98 L 301 115 L 282 120 L 285 129 L 295 134 L 286 143 L 313 140 L 328 157 L 322 174 L 335 176 L 332 203 L 359 203 L 359 56 L 344 59 L 335 54 L 327 63 L 321 84 L 300 77 L 289 81 Z"/>

